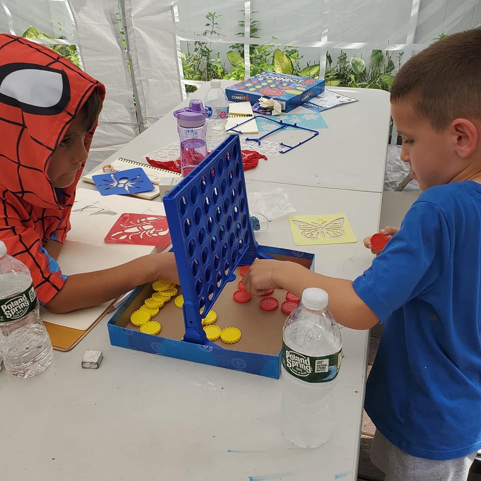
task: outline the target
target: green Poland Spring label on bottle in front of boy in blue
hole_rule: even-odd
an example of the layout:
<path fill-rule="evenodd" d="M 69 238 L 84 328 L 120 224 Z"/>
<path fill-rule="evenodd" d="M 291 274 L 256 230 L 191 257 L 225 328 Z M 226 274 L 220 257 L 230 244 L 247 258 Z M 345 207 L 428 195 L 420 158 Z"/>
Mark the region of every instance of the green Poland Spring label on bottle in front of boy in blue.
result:
<path fill-rule="evenodd" d="M 313 357 L 293 351 L 282 343 L 282 365 L 298 379 L 306 382 L 332 381 L 341 367 L 342 348 L 329 356 Z"/>

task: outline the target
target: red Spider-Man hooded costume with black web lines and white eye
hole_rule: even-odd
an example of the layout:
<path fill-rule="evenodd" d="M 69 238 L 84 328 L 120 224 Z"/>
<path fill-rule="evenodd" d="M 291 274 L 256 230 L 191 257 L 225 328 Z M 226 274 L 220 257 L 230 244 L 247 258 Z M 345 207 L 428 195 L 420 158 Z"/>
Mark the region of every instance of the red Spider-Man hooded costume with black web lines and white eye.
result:
<path fill-rule="evenodd" d="M 19 82 L 26 72 L 30 81 Z M 30 269 L 37 296 L 46 304 L 65 277 L 51 270 L 42 248 L 50 238 L 64 242 L 82 175 L 80 169 L 60 202 L 47 175 L 50 158 L 89 95 L 98 89 L 103 97 L 105 88 L 53 50 L 5 34 L 0 35 L 0 86 L 0 240 Z M 45 98 L 58 102 L 44 107 Z"/>

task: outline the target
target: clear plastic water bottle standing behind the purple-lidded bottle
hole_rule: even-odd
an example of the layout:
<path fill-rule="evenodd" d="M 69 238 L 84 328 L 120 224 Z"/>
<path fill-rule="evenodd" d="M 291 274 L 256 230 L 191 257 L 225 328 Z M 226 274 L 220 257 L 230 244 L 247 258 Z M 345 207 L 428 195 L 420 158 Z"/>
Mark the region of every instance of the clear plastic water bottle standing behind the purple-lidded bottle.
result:
<path fill-rule="evenodd" d="M 207 147 L 213 150 L 226 137 L 225 124 L 229 117 L 229 102 L 220 80 L 212 79 L 204 100 L 207 125 Z"/>

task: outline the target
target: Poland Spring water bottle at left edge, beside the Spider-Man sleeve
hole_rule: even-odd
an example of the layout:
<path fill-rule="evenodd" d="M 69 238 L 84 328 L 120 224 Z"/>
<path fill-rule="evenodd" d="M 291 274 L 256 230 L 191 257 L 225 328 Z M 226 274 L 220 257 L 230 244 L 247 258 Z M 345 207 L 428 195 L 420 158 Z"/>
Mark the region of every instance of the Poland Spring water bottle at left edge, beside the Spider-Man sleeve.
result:
<path fill-rule="evenodd" d="M 31 377 L 50 366 L 52 343 L 39 314 L 30 272 L 0 241 L 0 359 L 7 371 Z"/>

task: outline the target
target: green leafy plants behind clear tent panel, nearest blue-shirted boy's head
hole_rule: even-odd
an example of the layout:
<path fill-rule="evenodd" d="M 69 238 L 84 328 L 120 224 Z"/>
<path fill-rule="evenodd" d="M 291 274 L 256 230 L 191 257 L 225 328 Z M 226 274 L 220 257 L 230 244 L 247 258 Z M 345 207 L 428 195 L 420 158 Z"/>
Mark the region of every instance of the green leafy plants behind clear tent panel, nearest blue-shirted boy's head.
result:
<path fill-rule="evenodd" d="M 401 66 L 403 52 L 398 52 L 398 66 Z M 362 57 L 351 57 L 341 50 L 337 63 L 332 65 L 332 57 L 326 53 L 326 73 L 324 79 L 326 86 L 362 87 L 368 89 L 381 89 L 389 91 L 394 79 L 396 66 L 392 54 L 381 50 L 373 50 L 369 68 Z"/>

